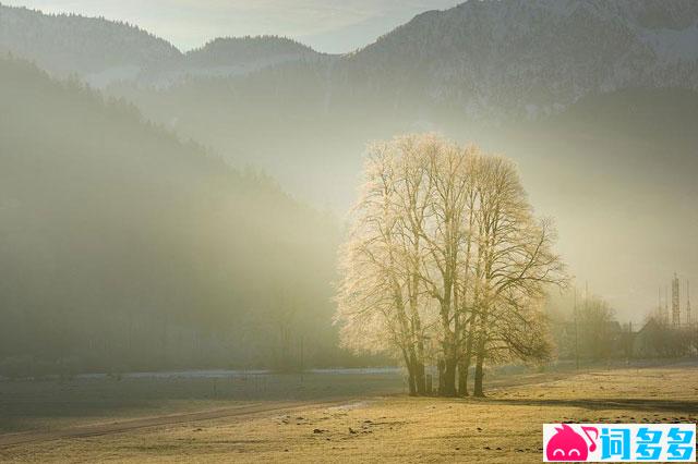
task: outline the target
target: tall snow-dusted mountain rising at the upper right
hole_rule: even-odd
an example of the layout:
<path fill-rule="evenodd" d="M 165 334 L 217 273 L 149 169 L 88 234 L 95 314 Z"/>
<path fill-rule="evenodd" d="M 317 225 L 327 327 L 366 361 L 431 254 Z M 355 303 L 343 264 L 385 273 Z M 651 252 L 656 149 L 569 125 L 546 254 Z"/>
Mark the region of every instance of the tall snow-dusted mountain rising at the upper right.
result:
<path fill-rule="evenodd" d="M 341 77 L 398 106 L 539 117 L 589 94 L 696 89 L 697 44 L 691 0 L 471 0 L 386 34 L 348 57 Z"/>

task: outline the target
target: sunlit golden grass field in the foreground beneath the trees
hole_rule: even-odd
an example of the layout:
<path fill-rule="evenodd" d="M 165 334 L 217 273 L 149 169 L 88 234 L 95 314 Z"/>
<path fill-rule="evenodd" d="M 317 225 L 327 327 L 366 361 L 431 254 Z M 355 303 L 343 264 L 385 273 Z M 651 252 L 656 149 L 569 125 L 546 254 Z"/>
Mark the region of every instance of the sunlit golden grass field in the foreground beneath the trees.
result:
<path fill-rule="evenodd" d="M 351 400 L 326 395 L 320 403 L 298 401 L 306 398 L 237 402 L 238 407 L 265 407 L 134 429 L 107 427 L 93 437 L 39 437 L 0 445 L 0 460 L 541 462 L 543 423 L 695 423 L 698 417 L 698 367 L 693 364 L 519 376 L 502 381 L 482 400 L 382 394 L 380 390 L 395 380 L 369 383 L 368 391 Z M 137 411 L 131 410 L 131 415 Z M 83 430 L 95 427 L 94 420 L 82 422 Z M 50 428 L 57 427 L 53 423 Z"/>

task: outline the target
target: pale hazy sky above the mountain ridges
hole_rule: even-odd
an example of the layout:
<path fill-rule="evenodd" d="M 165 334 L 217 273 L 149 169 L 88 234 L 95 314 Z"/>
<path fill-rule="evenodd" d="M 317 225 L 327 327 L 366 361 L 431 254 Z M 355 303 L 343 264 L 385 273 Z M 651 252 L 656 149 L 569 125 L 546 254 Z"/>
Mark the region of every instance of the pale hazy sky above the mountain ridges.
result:
<path fill-rule="evenodd" d="M 182 50 L 220 36 L 275 34 L 347 52 L 426 10 L 458 0 L 1 0 L 51 13 L 128 21 Z"/>

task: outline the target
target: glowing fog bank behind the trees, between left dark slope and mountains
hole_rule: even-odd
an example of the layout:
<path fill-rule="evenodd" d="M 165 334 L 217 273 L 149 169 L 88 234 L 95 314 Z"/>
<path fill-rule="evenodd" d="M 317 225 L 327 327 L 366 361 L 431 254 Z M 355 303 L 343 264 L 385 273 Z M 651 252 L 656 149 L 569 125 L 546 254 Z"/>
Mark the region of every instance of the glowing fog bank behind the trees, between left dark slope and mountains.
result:
<path fill-rule="evenodd" d="M 694 93 L 619 91 L 582 99 L 554 117 L 483 124 L 450 111 L 420 114 L 410 103 L 386 111 L 369 99 L 326 109 L 317 82 L 287 81 L 282 107 L 254 97 L 264 88 L 258 80 L 252 87 L 236 82 L 236 91 L 219 85 L 112 91 L 142 101 L 146 114 L 212 143 L 236 163 L 263 166 L 285 188 L 340 218 L 356 198 L 368 141 L 436 131 L 506 155 L 519 164 L 535 209 L 556 221 L 575 284 L 603 295 L 625 321 L 642 322 L 674 272 L 684 283 L 698 279 Z M 236 109 L 221 117 L 222 107 Z"/>

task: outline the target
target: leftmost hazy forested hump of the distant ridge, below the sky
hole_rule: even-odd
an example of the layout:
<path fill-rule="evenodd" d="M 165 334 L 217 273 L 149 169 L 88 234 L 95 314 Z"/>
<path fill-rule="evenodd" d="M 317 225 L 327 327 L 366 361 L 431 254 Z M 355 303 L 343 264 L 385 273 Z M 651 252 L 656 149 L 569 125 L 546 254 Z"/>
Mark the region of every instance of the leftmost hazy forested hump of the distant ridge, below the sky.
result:
<path fill-rule="evenodd" d="M 77 74 L 96 86 L 133 80 L 143 69 L 181 56 L 171 44 L 136 26 L 2 4 L 0 51 L 34 61 L 57 76 Z"/>

